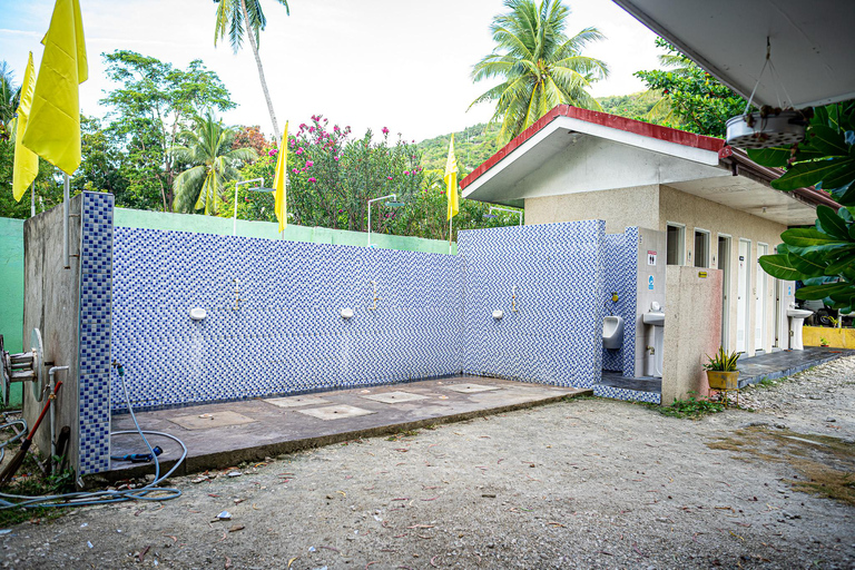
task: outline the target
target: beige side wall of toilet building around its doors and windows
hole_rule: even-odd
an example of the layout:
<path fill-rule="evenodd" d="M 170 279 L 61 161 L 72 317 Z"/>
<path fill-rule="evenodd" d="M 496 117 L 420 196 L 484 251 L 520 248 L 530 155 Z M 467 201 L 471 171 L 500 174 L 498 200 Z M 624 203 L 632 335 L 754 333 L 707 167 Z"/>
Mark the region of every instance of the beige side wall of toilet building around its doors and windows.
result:
<path fill-rule="evenodd" d="M 695 259 L 695 229 L 710 232 L 710 267 L 718 267 L 717 249 L 718 235 L 730 236 L 730 284 L 728 298 L 729 306 L 729 343 L 728 350 L 736 350 L 737 331 L 737 296 L 738 296 L 738 257 L 739 239 L 749 239 L 750 247 L 750 274 L 751 292 L 748 303 L 749 326 L 747 334 L 747 354 L 755 354 L 754 333 L 756 326 L 756 294 L 757 276 L 766 279 L 766 295 L 763 303 L 766 304 L 766 337 L 764 350 L 772 351 L 775 343 L 775 279 L 766 275 L 757 263 L 757 245 L 768 245 L 768 253 L 773 254 L 775 246 L 780 243 L 780 234 L 787 229 L 784 224 L 778 224 L 744 212 L 716 204 L 714 202 L 686 194 L 668 186 L 661 186 L 659 197 L 659 226 L 665 232 L 668 223 L 678 223 L 686 226 L 685 264 L 694 265 Z M 786 285 L 786 284 L 785 284 Z M 792 285 L 792 284 L 790 284 Z M 782 332 L 780 347 L 787 347 L 787 331 Z"/>

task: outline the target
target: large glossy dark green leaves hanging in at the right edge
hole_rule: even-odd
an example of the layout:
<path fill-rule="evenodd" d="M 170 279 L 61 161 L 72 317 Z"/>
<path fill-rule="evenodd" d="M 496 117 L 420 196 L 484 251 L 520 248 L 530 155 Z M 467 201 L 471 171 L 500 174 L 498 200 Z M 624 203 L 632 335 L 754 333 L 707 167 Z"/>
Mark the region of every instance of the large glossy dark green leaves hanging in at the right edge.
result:
<path fill-rule="evenodd" d="M 749 150 L 748 156 L 764 166 L 787 167 L 773 187 L 814 185 L 841 207 L 818 206 L 814 228 L 787 229 L 777 254 L 759 263 L 773 277 L 804 282 L 796 297 L 824 299 L 849 313 L 855 309 L 855 101 L 816 109 L 806 135 L 793 148 Z"/>

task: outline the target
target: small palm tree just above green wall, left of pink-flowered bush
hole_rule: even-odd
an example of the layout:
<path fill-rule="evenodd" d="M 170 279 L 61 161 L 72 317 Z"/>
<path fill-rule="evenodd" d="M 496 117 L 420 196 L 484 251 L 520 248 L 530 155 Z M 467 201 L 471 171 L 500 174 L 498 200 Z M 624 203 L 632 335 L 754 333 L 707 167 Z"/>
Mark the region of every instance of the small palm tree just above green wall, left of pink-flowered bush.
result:
<path fill-rule="evenodd" d="M 194 165 L 175 178 L 174 209 L 194 212 L 205 208 L 206 215 L 217 213 L 223 186 L 240 178 L 237 166 L 242 160 L 258 158 L 252 148 L 232 148 L 236 132 L 208 110 L 197 117 L 195 129 L 184 134 L 185 146 L 173 148 L 177 163 Z"/>

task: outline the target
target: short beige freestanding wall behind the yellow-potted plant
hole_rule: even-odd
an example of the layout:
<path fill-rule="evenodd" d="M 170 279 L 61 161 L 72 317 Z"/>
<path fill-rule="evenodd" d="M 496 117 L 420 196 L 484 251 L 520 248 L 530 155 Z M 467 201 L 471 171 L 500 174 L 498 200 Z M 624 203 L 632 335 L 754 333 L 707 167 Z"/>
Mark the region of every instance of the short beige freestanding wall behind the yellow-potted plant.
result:
<path fill-rule="evenodd" d="M 721 330 L 721 272 L 669 265 L 666 271 L 662 402 L 706 395 L 707 355 L 718 351 Z"/>

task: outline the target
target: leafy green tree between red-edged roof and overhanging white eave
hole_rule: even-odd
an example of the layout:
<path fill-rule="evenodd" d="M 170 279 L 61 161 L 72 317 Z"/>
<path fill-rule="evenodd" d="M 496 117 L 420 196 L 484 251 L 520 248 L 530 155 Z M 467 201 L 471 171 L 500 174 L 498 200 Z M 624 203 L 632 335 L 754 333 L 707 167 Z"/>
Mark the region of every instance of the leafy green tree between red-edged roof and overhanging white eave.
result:
<path fill-rule="evenodd" d="M 636 71 L 652 91 L 662 94 L 646 120 L 699 135 L 724 137 L 725 124 L 745 111 L 745 99 L 699 68 L 662 39 L 656 45 L 667 52 L 659 61 L 667 70 Z"/>

